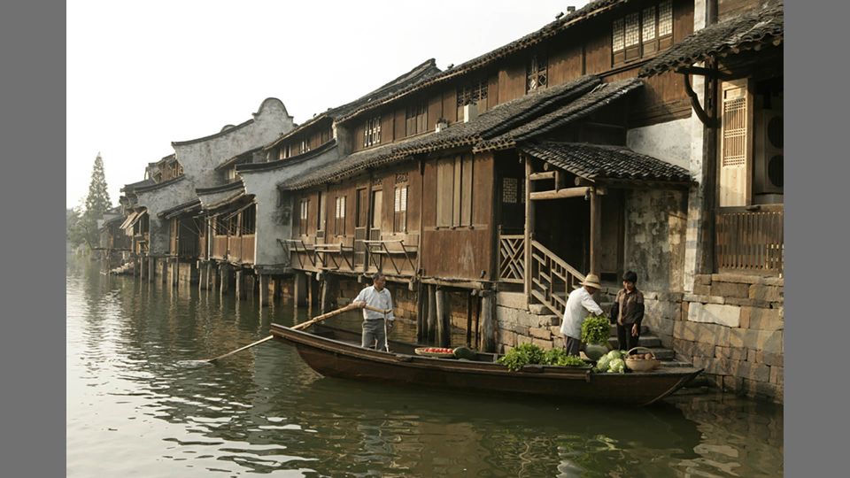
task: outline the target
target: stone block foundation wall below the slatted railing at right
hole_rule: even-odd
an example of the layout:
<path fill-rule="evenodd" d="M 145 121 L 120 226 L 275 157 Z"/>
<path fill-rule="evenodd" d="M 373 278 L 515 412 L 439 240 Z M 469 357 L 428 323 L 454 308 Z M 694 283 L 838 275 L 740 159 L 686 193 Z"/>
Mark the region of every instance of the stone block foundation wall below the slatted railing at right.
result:
<path fill-rule="evenodd" d="M 783 402 L 784 280 L 697 275 L 673 329 L 676 357 L 716 387 Z"/>

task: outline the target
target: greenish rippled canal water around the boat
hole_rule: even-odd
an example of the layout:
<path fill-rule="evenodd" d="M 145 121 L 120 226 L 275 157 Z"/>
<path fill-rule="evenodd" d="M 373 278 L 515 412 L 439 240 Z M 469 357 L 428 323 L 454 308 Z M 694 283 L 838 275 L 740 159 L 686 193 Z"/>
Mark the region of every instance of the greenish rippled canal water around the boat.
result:
<path fill-rule="evenodd" d="M 783 410 L 689 392 L 574 405 L 323 378 L 275 341 L 290 304 L 66 267 L 70 477 L 781 476 Z M 336 320 L 336 319 L 334 319 Z M 357 328 L 356 312 L 335 325 Z M 393 334 L 410 335 L 400 324 Z"/>

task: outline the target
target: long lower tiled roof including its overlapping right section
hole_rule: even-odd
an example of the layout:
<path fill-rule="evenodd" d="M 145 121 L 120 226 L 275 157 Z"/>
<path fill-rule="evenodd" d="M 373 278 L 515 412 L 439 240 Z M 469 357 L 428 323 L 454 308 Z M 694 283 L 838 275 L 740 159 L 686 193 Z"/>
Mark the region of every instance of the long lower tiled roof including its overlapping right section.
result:
<path fill-rule="evenodd" d="M 602 83 L 596 76 L 583 76 L 563 85 L 543 89 L 521 96 L 483 112 L 468 123 L 455 123 L 439 133 L 413 136 L 406 140 L 362 150 L 335 163 L 319 167 L 279 186 L 282 189 L 305 189 L 315 185 L 339 181 L 359 174 L 367 168 L 381 166 L 411 158 L 414 154 L 446 150 L 487 143 L 488 139 L 501 138 L 500 143 L 528 140 L 542 135 L 553 127 L 577 120 L 610 103 L 615 98 L 637 89 L 638 79 Z M 534 127 L 527 127 L 534 124 Z M 514 133 L 520 139 L 514 138 Z"/>

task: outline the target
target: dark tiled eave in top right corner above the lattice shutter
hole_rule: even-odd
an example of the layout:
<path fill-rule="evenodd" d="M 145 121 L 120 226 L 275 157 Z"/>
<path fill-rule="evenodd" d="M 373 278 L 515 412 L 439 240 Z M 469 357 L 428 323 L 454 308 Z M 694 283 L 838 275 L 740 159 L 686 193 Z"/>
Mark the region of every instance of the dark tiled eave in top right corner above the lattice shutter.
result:
<path fill-rule="evenodd" d="M 658 57 L 642 66 L 641 76 L 652 76 L 692 66 L 709 57 L 725 56 L 738 51 L 775 46 L 784 41 L 783 4 L 773 4 L 733 19 L 705 27 L 686 36 Z"/>

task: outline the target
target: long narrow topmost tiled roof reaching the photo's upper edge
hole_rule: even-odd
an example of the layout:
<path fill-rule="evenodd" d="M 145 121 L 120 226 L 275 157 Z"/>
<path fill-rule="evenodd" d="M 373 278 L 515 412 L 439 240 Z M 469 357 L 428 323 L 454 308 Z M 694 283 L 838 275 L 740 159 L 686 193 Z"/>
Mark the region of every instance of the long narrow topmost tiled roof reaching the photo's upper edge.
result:
<path fill-rule="evenodd" d="M 388 96 L 382 101 L 373 101 L 369 104 L 361 106 L 358 109 L 353 110 L 352 112 L 349 112 L 348 114 L 341 115 L 341 117 L 337 119 L 337 122 L 349 120 L 350 118 L 354 117 L 355 115 L 358 115 L 361 112 L 366 112 L 368 110 L 374 109 L 375 107 L 378 107 L 382 104 L 388 104 L 392 101 L 395 101 L 401 96 L 409 95 L 415 91 L 428 88 L 431 85 L 444 81 L 450 81 L 467 73 L 471 73 L 475 70 L 483 68 L 484 66 L 490 66 L 498 59 L 506 58 L 507 56 L 510 56 L 519 50 L 524 50 L 531 46 L 534 46 L 540 42 L 545 41 L 548 38 L 551 38 L 553 35 L 557 35 L 570 27 L 574 27 L 576 24 L 582 23 L 587 19 L 591 19 L 601 13 L 607 12 L 620 4 L 626 4 L 629 2 L 630 0 L 596 0 L 594 2 L 590 2 L 584 5 L 582 8 L 576 10 L 576 12 L 568 13 L 560 17 L 559 19 L 548 23 L 537 31 L 534 31 L 529 35 L 522 36 L 522 38 L 515 40 L 514 42 L 507 43 L 506 45 L 501 46 L 496 50 L 491 50 L 477 58 L 473 58 L 458 66 L 454 66 L 451 69 L 447 69 L 442 73 L 434 75 L 426 81 L 420 81 L 405 89 L 401 89 L 396 94 Z"/>

